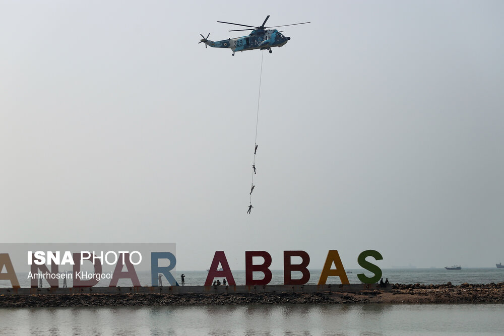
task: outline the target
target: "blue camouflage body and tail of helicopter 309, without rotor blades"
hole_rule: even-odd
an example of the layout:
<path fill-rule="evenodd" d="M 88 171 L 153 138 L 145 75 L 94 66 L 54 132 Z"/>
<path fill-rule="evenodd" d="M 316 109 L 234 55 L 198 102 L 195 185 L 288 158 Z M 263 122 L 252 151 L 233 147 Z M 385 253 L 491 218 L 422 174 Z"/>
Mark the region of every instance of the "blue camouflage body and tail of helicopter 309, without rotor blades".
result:
<path fill-rule="evenodd" d="M 281 47 L 288 40 L 290 40 L 290 37 L 285 37 L 276 29 L 255 29 L 247 36 L 228 38 L 221 41 L 202 39 L 201 42 L 213 48 L 229 48 L 234 54 L 236 51 Z"/>

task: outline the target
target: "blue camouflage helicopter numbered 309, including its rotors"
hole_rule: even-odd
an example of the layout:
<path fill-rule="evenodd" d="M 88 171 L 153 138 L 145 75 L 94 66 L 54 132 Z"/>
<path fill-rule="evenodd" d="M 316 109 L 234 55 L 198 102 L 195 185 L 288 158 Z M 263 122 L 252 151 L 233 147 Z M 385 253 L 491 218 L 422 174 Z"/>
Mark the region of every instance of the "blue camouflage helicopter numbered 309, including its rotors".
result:
<path fill-rule="evenodd" d="M 203 36 L 203 34 L 200 34 L 201 37 L 203 38 L 200 40 L 200 42 L 198 42 L 198 44 L 205 43 L 205 48 L 207 47 L 207 45 L 213 48 L 229 48 L 233 51 L 232 54 L 233 56 L 236 51 L 243 52 L 246 50 L 254 50 L 254 49 L 269 50 L 269 52 L 272 53 L 273 50 L 271 50 L 271 48 L 283 46 L 285 43 L 287 43 L 287 41 L 290 40 L 290 37 L 285 37 L 282 34 L 283 31 L 268 28 L 295 26 L 309 23 L 309 22 L 301 22 L 301 23 L 294 23 L 291 25 L 265 27 L 264 25 L 266 24 L 266 21 L 268 21 L 269 18 L 270 16 L 268 15 L 261 26 L 249 26 L 249 25 L 242 25 L 239 23 L 217 21 L 219 23 L 227 23 L 229 25 L 250 27 L 248 29 L 228 30 L 230 32 L 244 31 L 244 30 L 251 30 L 251 32 L 247 36 L 228 38 L 227 40 L 222 41 L 209 40 L 208 37 L 210 36 L 210 33 L 208 33 L 207 37 Z"/>

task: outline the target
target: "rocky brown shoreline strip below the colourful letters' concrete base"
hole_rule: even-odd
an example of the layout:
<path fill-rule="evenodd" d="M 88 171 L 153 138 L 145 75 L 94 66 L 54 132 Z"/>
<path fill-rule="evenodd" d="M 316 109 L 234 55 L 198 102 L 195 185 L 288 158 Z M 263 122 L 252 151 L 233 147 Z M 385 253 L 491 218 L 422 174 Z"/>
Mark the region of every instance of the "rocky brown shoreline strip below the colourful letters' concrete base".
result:
<path fill-rule="evenodd" d="M 0 308 L 138 307 L 264 304 L 429 304 L 504 303 L 504 283 L 471 285 L 395 284 L 392 289 L 316 293 L 128 293 L 0 295 Z"/>

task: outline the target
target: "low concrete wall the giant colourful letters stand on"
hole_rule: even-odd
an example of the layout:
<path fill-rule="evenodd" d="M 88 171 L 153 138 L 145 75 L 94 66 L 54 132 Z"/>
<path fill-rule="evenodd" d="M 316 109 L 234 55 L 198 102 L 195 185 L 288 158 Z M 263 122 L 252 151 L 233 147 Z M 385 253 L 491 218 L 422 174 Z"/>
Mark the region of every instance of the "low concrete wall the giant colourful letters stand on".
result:
<path fill-rule="evenodd" d="M 0 295 L 57 295 L 57 294 L 224 294 L 224 293 L 357 293 L 379 289 L 390 291 L 391 286 L 378 284 L 333 285 L 265 285 L 265 286 L 166 286 L 166 287 L 68 287 L 68 288 L 0 288 Z"/>

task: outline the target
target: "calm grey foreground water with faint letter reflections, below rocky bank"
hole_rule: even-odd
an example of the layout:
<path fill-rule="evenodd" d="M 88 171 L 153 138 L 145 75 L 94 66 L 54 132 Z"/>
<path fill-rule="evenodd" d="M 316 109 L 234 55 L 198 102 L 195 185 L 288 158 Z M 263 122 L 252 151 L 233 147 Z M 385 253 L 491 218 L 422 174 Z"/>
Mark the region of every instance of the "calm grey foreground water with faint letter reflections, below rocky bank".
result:
<path fill-rule="evenodd" d="M 504 305 L 2 308 L 0 335 L 498 334 Z"/>

